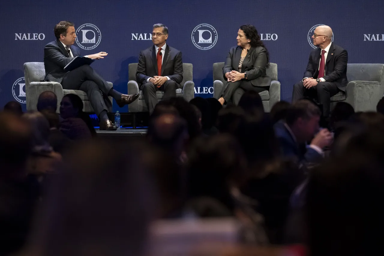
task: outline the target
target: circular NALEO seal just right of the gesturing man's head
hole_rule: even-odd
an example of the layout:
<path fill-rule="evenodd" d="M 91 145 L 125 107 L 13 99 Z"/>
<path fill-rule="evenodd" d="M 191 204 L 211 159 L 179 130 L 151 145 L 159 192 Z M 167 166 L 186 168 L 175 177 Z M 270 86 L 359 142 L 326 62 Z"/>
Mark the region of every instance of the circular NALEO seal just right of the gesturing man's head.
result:
<path fill-rule="evenodd" d="M 76 43 L 84 50 L 91 50 L 96 48 L 100 41 L 100 30 L 93 24 L 83 24 L 76 30 Z"/>

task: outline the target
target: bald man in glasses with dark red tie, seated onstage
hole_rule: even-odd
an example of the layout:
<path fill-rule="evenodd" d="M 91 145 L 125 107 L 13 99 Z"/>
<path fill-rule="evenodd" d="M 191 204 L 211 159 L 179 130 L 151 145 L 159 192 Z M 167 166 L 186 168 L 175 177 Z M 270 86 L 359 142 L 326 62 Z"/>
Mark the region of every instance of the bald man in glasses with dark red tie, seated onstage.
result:
<path fill-rule="evenodd" d="M 314 30 L 312 50 L 304 78 L 293 86 L 292 102 L 307 96 L 318 101 L 323 107 L 323 116 L 328 119 L 331 97 L 339 91 L 345 93 L 348 84 L 348 53 L 335 45 L 332 29 L 322 25 Z"/>

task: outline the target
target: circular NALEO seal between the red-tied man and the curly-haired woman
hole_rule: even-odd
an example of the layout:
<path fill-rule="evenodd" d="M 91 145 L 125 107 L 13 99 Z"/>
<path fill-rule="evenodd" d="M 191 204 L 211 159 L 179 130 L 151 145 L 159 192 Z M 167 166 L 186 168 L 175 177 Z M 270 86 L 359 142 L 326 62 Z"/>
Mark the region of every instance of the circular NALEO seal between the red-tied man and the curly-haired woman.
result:
<path fill-rule="evenodd" d="M 200 50 L 208 50 L 217 42 L 217 31 L 209 24 L 200 24 L 192 31 L 192 43 Z"/>

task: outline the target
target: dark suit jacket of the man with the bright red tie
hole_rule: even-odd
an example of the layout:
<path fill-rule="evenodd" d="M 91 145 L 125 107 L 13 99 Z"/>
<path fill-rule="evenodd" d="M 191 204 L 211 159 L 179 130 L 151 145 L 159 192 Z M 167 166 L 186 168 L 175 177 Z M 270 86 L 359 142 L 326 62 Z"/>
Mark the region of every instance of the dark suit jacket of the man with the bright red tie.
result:
<path fill-rule="evenodd" d="M 157 76 L 157 58 L 155 46 L 140 52 L 137 64 L 136 81 L 143 84 L 148 78 Z M 168 76 L 179 84 L 183 81 L 183 60 L 181 52 L 167 44 L 161 66 L 161 76 Z"/>

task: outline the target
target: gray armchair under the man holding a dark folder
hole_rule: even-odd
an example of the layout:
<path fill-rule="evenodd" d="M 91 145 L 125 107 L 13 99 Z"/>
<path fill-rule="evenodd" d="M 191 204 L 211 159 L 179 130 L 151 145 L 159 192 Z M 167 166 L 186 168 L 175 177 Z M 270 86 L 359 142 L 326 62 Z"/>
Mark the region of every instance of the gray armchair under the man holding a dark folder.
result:
<path fill-rule="evenodd" d="M 60 83 L 56 82 L 41 82 L 45 77 L 45 68 L 43 62 L 27 62 L 24 63 L 24 76 L 25 76 L 25 95 L 26 95 L 26 109 L 36 110 L 37 100 L 40 93 L 43 91 L 53 91 L 57 96 L 57 110 L 59 112 L 60 102 L 64 95 L 76 94 L 83 101 L 83 111 L 86 113 L 94 113 L 88 96 L 84 91 L 79 90 L 63 90 Z M 112 85 L 111 82 L 108 82 Z M 109 97 L 112 102 L 112 97 Z"/>

